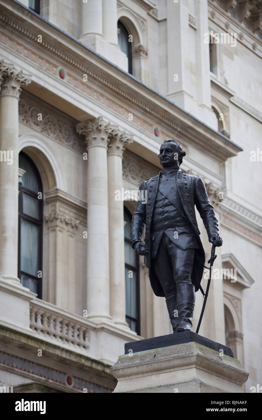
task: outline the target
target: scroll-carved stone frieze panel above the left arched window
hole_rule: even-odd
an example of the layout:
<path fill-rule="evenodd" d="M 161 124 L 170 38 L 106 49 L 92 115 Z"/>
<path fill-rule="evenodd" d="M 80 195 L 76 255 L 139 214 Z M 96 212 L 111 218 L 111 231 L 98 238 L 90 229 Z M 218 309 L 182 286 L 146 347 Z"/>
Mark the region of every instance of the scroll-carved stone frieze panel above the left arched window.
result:
<path fill-rule="evenodd" d="M 19 100 L 19 121 L 77 152 L 85 150 L 84 142 L 75 130 L 74 118 L 26 92 Z"/>

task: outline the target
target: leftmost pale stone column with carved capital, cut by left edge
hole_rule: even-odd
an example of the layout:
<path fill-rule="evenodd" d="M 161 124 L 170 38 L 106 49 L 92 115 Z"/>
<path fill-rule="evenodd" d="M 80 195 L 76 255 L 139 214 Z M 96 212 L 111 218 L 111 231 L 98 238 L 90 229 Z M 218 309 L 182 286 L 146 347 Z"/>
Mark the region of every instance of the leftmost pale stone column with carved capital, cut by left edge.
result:
<path fill-rule="evenodd" d="M 30 79 L 0 60 L 0 271 L 19 282 L 18 264 L 18 101 Z"/>

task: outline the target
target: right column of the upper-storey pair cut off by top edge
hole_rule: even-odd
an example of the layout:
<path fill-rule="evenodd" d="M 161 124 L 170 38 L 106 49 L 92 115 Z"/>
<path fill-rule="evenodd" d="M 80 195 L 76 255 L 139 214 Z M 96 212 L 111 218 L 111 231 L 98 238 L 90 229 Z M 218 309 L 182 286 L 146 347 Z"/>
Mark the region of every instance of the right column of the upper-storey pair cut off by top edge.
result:
<path fill-rule="evenodd" d="M 117 44 L 116 0 L 103 0 L 103 35 L 111 44 Z"/>

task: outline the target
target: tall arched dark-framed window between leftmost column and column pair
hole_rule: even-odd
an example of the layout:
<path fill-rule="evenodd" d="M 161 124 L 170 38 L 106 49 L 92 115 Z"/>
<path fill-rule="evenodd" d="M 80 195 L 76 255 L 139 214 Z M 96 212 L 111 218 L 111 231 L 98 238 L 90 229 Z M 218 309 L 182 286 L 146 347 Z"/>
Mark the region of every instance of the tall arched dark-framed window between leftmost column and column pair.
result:
<path fill-rule="evenodd" d="M 19 154 L 18 277 L 42 298 L 42 181 L 37 167 L 24 152 Z M 39 194 L 42 193 L 42 194 Z"/>

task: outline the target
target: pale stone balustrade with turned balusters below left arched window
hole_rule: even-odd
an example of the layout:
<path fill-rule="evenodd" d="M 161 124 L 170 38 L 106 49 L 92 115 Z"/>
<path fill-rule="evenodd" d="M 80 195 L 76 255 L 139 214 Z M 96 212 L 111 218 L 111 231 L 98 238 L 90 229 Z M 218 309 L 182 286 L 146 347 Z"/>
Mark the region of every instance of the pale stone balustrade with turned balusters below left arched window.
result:
<path fill-rule="evenodd" d="M 30 328 L 57 343 L 89 350 L 90 328 L 87 321 L 80 315 L 40 299 L 30 302 Z"/>

